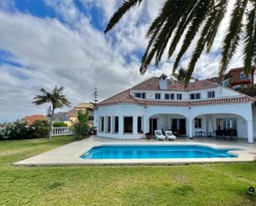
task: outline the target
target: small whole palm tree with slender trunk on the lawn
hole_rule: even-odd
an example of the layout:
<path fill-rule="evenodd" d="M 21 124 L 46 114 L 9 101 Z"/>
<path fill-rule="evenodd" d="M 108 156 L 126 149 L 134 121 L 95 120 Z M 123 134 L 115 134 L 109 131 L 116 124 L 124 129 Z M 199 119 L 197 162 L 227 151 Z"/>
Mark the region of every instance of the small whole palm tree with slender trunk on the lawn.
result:
<path fill-rule="evenodd" d="M 51 126 L 54 111 L 56 108 L 63 108 L 64 106 L 70 107 L 70 101 L 66 98 L 63 92 L 63 87 L 58 88 L 57 86 L 52 90 L 52 93 L 46 92 L 46 89 L 40 89 L 42 95 L 36 95 L 34 98 L 36 105 L 42 105 L 45 103 L 51 103 L 51 122 L 49 125 L 48 137 L 51 139 Z"/>

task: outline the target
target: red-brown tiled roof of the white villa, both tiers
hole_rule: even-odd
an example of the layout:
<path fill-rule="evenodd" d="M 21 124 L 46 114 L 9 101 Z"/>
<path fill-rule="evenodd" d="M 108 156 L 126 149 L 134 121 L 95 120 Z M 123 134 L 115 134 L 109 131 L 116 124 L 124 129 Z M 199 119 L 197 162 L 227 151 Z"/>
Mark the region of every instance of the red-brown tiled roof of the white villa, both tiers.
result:
<path fill-rule="evenodd" d="M 198 80 L 196 82 L 190 83 L 186 88 L 184 84 L 175 81 L 174 83 L 169 82 L 167 89 L 172 91 L 193 91 L 200 89 L 210 89 L 218 87 L 219 84 L 215 84 L 210 80 Z M 159 88 L 159 78 L 152 77 L 147 79 L 134 86 L 132 89 L 127 89 L 121 93 L 114 95 L 111 98 L 107 98 L 104 101 L 100 102 L 98 105 L 109 105 L 114 103 L 137 103 L 142 105 L 162 105 L 162 106 L 199 106 L 199 105 L 210 105 L 210 104 L 222 104 L 222 103 L 245 103 L 245 102 L 254 102 L 255 98 L 249 96 L 238 96 L 230 98 L 212 98 L 205 100 L 160 100 L 160 99 L 143 99 L 143 98 L 134 98 L 131 94 L 132 90 L 161 90 Z"/>

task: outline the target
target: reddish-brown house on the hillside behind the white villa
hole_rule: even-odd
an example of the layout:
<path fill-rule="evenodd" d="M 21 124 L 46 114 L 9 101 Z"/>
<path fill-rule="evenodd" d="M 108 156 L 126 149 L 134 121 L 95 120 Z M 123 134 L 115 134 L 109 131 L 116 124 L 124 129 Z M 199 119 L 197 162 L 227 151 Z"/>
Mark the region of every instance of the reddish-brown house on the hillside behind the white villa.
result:
<path fill-rule="evenodd" d="M 244 74 L 244 67 L 230 69 L 226 78 L 221 81 L 221 85 L 224 87 L 229 87 L 231 89 L 238 89 L 239 87 L 249 86 L 254 84 L 254 66 L 252 67 L 252 73 L 249 74 L 247 78 Z M 217 77 L 210 79 L 212 82 L 218 82 Z"/>

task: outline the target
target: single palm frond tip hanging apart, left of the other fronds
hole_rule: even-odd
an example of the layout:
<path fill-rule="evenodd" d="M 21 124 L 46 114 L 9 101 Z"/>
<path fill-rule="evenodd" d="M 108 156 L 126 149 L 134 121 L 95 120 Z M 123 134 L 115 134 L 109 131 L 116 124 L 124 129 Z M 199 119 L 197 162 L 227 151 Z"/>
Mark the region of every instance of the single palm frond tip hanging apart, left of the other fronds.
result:
<path fill-rule="evenodd" d="M 123 15 L 128 12 L 131 7 L 139 5 L 142 2 L 142 0 L 126 0 L 123 2 L 122 6 L 118 8 L 116 12 L 114 12 L 113 17 L 110 18 L 109 23 L 104 31 L 104 33 L 107 33 L 109 30 L 111 30 L 123 17 Z"/>

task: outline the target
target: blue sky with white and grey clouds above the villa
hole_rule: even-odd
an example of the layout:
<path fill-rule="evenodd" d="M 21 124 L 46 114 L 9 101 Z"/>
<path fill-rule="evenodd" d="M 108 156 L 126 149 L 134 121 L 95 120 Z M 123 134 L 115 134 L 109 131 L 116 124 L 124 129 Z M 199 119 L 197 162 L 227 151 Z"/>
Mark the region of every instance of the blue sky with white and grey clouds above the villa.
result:
<path fill-rule="evenodd" d="M 138 72 L 147 46 L 145 33 L 164 1 L 144 1 L 104 35 L 109 17 L 121 2 L 1 0 L 0 122 L 45 114 L 47 105 L 31 103 L 41 88 L 51 91 L 55 85 L 65 87 L 65 94 L 75 106 L 91 100 L 94 86 L 103 100 L 153 75 L 170 75 L 173 59 L 166 57 L 160 68 L 152 67 L 143 76 Z M 225 18 L 212 52 L 196 65 L 196 78 L 217 74 L 228 20 Z M 188 64 L 192 47 L 181 60 L 182 66 Z M 240 57 L 236 55 L 229 68 L 241 66 Z"/>

